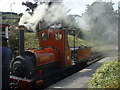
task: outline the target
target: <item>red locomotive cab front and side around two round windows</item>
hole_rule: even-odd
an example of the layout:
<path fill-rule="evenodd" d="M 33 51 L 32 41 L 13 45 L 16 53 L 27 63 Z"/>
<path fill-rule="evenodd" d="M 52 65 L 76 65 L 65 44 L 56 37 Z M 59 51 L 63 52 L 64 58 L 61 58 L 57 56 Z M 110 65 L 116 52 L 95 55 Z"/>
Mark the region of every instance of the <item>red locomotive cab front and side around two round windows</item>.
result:
<path fill-rule="evenodd" d="M 55 39 L 56 33 L 61 33 L 61 40 Z M 48 40 L 43 40 L 42 34 L 49 34 Z M 68 47 L 67 30 L 49 29 L 40 32 L 40 47 L 56 47 L 60 52 L 60 66 L 69 66 L 72 64 L 70 49 Z M 57 55 L 57 54 L 55 54 Z"/>

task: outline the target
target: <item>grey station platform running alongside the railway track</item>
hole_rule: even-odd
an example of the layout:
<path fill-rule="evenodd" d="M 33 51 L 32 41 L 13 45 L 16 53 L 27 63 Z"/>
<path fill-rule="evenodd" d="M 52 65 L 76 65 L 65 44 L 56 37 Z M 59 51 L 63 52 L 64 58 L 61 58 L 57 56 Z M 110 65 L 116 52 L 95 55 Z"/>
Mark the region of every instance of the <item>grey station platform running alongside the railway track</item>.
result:
<path fill-rule="evenodd" d="M 47 89 L 88 88 L 88 82 L 92 78 L 92 74 L 105 62 L 115 61 L 116 59 L 117 57 L 106 57 L 56 84 L 49 86 Z"/>

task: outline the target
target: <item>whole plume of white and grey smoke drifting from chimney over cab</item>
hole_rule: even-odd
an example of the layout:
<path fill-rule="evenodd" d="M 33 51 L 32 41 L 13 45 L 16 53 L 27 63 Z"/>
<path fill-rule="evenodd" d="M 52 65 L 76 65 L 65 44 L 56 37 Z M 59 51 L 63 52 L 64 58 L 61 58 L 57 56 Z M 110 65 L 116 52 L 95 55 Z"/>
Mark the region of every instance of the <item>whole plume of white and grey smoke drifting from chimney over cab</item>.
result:
<path fill-rule="evenodd" d="M 39 23 L 40 28 L 61 24 L 62 27 L 78 27 L 75 20 L 68 15 L 69 10 L 62 3 L 52 5 L 40 4 L 32 15 L 25 14 L 21 17 L 19 25 L 25 25 L 28 29 L 35 31 Z"/>

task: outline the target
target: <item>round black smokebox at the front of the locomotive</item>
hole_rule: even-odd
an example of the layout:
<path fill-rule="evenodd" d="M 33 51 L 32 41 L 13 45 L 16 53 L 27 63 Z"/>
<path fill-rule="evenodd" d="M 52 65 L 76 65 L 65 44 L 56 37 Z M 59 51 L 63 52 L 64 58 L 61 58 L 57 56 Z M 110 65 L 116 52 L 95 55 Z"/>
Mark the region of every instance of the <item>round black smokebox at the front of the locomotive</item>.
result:
<path fill-rule="evenodd" d="M 34 69 L 34 64 L 32 63 L 29 58 L 16 58 L 12 62 L 12 74 L 18 77 L 23 77 L 23 78 L 32 78 L 35 74 Z"/>

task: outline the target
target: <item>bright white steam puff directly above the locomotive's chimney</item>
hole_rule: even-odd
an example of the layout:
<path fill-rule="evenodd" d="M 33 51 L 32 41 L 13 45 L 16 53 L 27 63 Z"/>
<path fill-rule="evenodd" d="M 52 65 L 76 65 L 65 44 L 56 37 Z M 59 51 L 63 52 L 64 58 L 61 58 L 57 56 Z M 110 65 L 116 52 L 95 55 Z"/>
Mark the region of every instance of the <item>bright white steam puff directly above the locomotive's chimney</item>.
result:
<path fill-rule="evenodd" d="M 46 10 L 48 6 L 45 4 L 39 5 L 32 15 L 24 14 L 19 22 L 19 25 L 25 25 L 28 29 L 35 30 L 39 21 L 43 20 L 43 17 L 46 15 Z"/>

